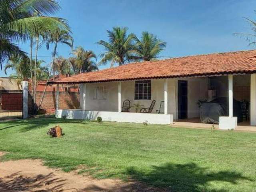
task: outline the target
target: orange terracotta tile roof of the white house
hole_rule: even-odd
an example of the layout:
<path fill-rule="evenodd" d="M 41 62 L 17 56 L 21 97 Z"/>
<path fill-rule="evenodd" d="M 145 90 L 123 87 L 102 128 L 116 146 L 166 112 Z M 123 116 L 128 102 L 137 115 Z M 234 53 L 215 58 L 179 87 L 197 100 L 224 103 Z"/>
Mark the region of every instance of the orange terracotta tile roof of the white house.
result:
<path fill-rule="evenodd" d="M 135 62 L 100 71 L 82 73 L 50 83 L 92 83 L 240 73 L 256 73 L 256 50 Z"/>

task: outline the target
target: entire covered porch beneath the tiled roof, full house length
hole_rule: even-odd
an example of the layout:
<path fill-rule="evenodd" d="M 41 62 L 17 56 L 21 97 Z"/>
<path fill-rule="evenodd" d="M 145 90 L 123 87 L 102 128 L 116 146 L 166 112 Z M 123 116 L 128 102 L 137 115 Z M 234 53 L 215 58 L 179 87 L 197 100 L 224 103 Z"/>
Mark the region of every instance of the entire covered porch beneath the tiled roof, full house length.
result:
<path fill-rule="evenodd" d="M 249 81 L 248 81 L 249 78 Z M 212 82 L 218 80 L 216 95 L 209 96 L 212 90 Z M 150 124 L 172 124 L 172 126 L 209 127 L 212 123 L 201 122 L 201 112 L 198 100 L 213 100 L 216 97 L 228 99 L 228 116 L 220 117 L 220 124 L 215 124 L 220 129 L 239 129 L 249 127 L 254 129 L 256 125 L 256 74 L 205 76 L 192 78 L 165 78 L 150 80 L 150 98 L 136 98 L 136 82 L 143 80 L 129 80 L 119 82 L 99 82 L 80 84 L 80 109 L 59 109 L 58 108 L 58 84 L 56 89 L 56 117 L 96 120 L 98 116 L 105 121 L 134 122 Z M 148 80 L 146 80 L 148 81 Z M 179 82 L 187 82 L 187 102 L 185 118 L 181 116 L 184 108 L 180 106 Z M 243 83 L 241 83 L 243 81 Z M 244 93 L 239 90 L 237 84 L 248 87 Z M 143 90 L 144 91 L 144 90 Z M 147 94 L 148 94 L 147 92 Z M 237 92 L 240 92 L 239 94 Z M 238 123 L 237 117 L 233 116 L 233 101 L 248 100 L 248 118 Z M 129 100 L 129 112 L 122 112 L 123 102 Z M 156 100 L 153 109 L 149 113 L 135 112 L 134 104 L 140 108 L 148 108 L 152 101 Z M 161 106 L 162 104 L 162 106 Z M 253 107 L 254 106 L 254 107 Z M 159 110 L 159 114 L 156 113 Z"/>

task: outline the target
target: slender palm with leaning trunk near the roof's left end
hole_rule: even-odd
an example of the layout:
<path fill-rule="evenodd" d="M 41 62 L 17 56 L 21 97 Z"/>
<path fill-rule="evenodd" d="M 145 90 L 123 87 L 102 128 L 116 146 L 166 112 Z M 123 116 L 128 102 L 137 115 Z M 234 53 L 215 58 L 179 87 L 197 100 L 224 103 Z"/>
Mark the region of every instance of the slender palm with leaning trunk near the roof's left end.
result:
<path fill-rule="evenodd" d="M 53 71 L 53 79 L 55 78 L 54 63 L 55 63 L 55 56 L 56 56 L 56 53 L 57 53 L 58 44 L 59 43 L 66 44 L 66 45 L 70 46 L 70 48 L 72 48 L 74 39 L 72 38 L 72 36 L 70 35 L 70 32 L 68 30 L 52 30 L 50 32 L 50 34 L 46 35 L 45 41 L 46 41 L 46 48 L 47 49 L 49 49 L 50 43 L 54 44 L 54 49 L 53 49 L 53 52 L 52 52 L 52 66 L 51 66 L 51 69 L 50 69 L 50 74 L 47 78 L 47 83 L 48 83 L 49 80 L 50 80 L 50 76 L 52 74 L 52 71 Z M 45 92 L 46 92 L 46 88 L 48 86 L 47 83 L 46 83 L 46 86 L 44 88 L 44 92 L 42 94 L 42 98 L 40 100 L 40 103 L 38 105 L 38 110 L 40 110 L 40 107 L 41 107 L 42 102 L 44 100 L 44 95 L 45 95 Z"/>

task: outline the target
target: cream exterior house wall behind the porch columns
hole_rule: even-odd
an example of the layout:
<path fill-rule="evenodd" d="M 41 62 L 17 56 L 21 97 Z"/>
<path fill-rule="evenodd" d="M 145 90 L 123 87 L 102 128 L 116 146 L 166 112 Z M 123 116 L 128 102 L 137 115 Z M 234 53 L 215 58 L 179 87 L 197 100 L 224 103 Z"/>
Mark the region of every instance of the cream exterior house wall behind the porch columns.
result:
<path fill-rule="evenodd" d="M 173 119 L 178 118 L 178 80 L 188 81 L 188 118 L 199 117 L 199 99 L 207 99 L 208 78 L 171 78 L 168 79 L 168 114 L 173 114 Z M 151 100 L 134 100 L 135 81 L 122 81 L 121 86 L 121 105 L 128 99 L 131 106 L 134 103 L 149 107 L 152 100 L 156 104 L 152 113 L 160 107 L 160 102 L 164 101 L 164 79 L 151 80 Z M 109 111 L 118 112 L 118 84 L 119 82 L 90 83 L 86 84 L 86 110 L 89 111 Z M 93 99 L 93 87 L 106 86 L 106 100 Z M 134 108 L 130 112 L 135 112 Z"/>

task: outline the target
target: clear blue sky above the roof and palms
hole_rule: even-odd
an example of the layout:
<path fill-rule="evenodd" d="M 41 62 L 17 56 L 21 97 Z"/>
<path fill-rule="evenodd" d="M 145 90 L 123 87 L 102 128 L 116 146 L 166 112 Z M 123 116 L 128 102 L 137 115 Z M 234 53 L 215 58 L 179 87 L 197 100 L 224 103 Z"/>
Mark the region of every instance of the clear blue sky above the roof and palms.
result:
<path fill-rule="evenodd" d="M 255 0 L 59 0 L 55 16 L 68 20 L 74 47 L 83 46 L 97 55 L 104 49 L 98 40 L 108 40 L 106 30 L 127 26 L 140 37 L 149 31 L 167 42 L 161 56 L 178 57 L 214 52 L 249 50 L 235 32 L 252 32 L 242 17 L 256 20 Z M 20 45 L 29 52 L 28 44 Z M 48 64 L 52 46 L 42 45 L 38 55 Z M 58 46 L 58 55 L 69 57 L 70 48 Z M 100 58 L 98 58 L 100 60 Z M 101 68 L 106 68 L 103 66 Z M 8 70 L 7 76 L 12 73 Z M 0 76 L 6 76 L 3 71 Z"/>

